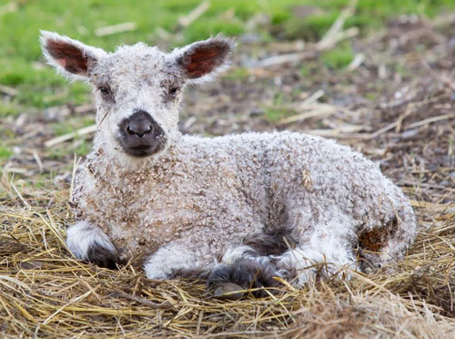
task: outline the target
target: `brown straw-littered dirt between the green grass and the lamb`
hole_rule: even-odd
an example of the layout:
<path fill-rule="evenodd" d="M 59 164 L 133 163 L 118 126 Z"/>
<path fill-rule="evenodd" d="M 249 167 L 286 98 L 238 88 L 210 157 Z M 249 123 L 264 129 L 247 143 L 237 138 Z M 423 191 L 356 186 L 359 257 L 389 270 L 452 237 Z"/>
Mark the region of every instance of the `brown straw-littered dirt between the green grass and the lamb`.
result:
<path fill-rule="evenodd" d="M 238 76 L 236 67 L 248 63 L 258 49 L 268 48 L 240 46 L 233 71 L 208 86 L 188 88 L 180 127 L 184 133 L 207 136 L 250 130 L 306 132 L 341 128 L 339 134 L 329 137 L 379 161 L 382 170 L 404 187 L 418 179 L 422 184 L 420 199 L 448 202 L 455 187 L 451 149 L 455 119 L 452 115 L 425 123 L 429 118 L 453 114 L 455 36 L 447 28 L 435 28 L 430 22 L 412 17 L 389 22 L 388 28 L 376 36 L 351 42 L 356 53 L 365 56 L 362 65 L 353 71 L 329 69 L 314 57 L 267 69 L 241 68 L 245 71 Z M 274 51 L 263 54 L 273 55 Z M 305 77 L 302 66 L 311 67 Z M 320 89 L 324 95 L 319 102 L 349 111 L 339 109 L 328 117 L 316 115 L 289 124 L 267 118 L 268 109 L 279 112 L 298 107 Z M 61 174 L 61 164 L 67 171 L 73 155 L 56 157 L 49 155 L 52 149 L 44 148 L 45 140 L 54 137 L 50 123 L 93 115 L 92 111 L 76 113 L 71 107 L 69 112 L 66 109 L 68 113 L 59 116 L 58 109 L 51 108 L 3 121 L 14 131 L 15 151 L 20 151 L 7 167 L 22 169 L 25 177 L 33 177 L 40 171 L 35 152 L 43 163 L 41 171 Z M 397 125 L 372 138 L 368 136 L 391 123 Z M 343 133 L 343 128 L 355 130 L 355 135 Z"/>

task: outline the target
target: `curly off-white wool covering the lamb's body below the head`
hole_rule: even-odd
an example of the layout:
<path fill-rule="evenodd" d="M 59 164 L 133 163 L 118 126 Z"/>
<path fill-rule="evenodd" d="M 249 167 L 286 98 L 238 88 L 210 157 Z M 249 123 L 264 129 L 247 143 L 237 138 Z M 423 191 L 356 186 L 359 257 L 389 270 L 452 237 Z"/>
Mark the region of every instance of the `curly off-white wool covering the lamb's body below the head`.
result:
<path fill-rule="evenodd" d="M 255 232 L 287 228 L 320 255 L 353 248 L 361 231 L 398 218 L 389 257 L 415 237 L 409 201 L 369 159 L 319 137 L 290 132 L 214 139 L 184 136 L 166 154 L 129 169 L 95 145 L 76 177 L 77 219 L 109 234 L 123 260 L 169 242 L 200 265 Z M 321 241 L 323 240 L 323 241 Z"/>

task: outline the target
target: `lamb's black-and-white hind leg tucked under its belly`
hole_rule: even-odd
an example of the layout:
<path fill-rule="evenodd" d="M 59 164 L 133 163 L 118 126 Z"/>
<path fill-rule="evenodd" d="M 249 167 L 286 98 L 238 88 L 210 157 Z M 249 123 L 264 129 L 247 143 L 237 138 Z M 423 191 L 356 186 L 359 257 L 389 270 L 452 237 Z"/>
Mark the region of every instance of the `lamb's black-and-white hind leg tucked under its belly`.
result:
<path fill-rule="evenodd" d="M 333 231 L 338 222 L 324 222 L 311 234 L 290 234 L 288 230 L 252 234 L 245 240 L 245 245 L 226 252 L 223 263 L 209 275 L 207 287 L 216 296 L 225 293 L 232 299 L 242 295 L 231 293 L 234 291 L 232 284 L 237 285 L 237 290 L 257 289 L 253 295 L 261 296 L 264 295 L 261 287 L 279 285 L 275 277 L 297 285 L 320 275 L 342 278 L 343 274 L 349 274 L 345 268 L 355 270 L 357 262 L 349 234 L 346 234 L 351 228 Z M 301 238 L 305 240 L 299 242 Z"/>

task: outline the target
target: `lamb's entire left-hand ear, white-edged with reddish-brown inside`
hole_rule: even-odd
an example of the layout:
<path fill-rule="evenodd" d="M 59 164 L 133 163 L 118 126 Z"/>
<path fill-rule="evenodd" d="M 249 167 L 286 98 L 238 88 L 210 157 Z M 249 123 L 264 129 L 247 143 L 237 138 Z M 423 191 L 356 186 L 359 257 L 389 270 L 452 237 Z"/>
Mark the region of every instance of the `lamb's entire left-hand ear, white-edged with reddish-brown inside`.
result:
<path fill-rule="evenodd" d="M 56 33 L 41 31 L 41 48 L 47 62 L 67 77 L 86 79 L 89 71 L 106 52 L 100 48 L 59 36 Z"/>

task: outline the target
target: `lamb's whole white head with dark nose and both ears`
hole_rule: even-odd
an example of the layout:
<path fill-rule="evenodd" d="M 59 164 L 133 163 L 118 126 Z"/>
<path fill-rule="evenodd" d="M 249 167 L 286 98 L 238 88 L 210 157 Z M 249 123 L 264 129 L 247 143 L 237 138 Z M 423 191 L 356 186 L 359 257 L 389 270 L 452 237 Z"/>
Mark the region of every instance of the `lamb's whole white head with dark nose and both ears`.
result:
<path fill-rule="evenodd" d="M 41 44 L 51 65 L 94 87 L 96 142 L 135 158 L 160 154 L 177 139 L 183 88 L 226 68 L 234 45 L 215 36 L 171 53 L 140 43 L 107 53 L 50 32 Z"/>

